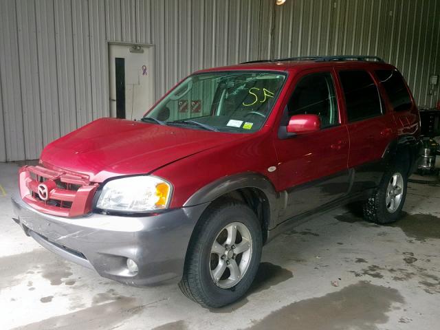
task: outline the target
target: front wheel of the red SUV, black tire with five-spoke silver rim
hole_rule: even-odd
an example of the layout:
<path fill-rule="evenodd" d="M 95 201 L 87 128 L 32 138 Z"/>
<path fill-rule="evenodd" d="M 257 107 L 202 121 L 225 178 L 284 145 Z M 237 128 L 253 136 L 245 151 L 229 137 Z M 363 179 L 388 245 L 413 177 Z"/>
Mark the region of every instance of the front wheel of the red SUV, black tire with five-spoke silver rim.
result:
<path fill-rule="evenodd" d="M 254 281 L 263 239 L 255 213 L 238 201 L 207 210 L 195 228 L 181 291 L 204 307 L 223 307 L 239 300 Z"/>

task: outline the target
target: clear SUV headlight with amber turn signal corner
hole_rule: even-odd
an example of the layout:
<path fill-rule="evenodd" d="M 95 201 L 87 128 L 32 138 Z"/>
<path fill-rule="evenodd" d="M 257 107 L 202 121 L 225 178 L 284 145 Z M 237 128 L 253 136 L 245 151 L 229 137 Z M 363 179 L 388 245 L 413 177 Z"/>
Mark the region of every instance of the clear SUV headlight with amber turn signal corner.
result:
<path fill-rule="evenodd" d="M 170 184 L 159 177 L 124 177 L 104 185 L 96 207 L 129 212 L 160 210 L 168 207 L 170 195 Z"/>

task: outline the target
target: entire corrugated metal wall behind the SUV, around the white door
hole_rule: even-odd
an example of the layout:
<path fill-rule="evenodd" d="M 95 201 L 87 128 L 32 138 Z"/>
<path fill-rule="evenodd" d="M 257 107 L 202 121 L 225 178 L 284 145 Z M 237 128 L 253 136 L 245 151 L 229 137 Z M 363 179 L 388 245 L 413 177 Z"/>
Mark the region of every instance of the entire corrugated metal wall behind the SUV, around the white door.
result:
<path fill-rule="evenodd" d="M 314 54 L 382 56 L 420 106 L 439 98 L 440 1 L 274 2 L 0 1 L 0 161 L 109 115 L 107 42 L 154 45 L 155 98 L 202 67 Z"/>

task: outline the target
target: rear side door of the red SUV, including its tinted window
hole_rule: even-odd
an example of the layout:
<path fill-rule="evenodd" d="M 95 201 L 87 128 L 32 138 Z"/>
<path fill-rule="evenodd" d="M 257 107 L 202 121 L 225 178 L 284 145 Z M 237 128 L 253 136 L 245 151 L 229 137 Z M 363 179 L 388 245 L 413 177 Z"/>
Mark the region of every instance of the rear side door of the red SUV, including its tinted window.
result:
<path fill-rule="evenodd" d="M 393 114 L 386 111 L 371 72 L 338 70 L 350 138 L 349 168 L 355 169 L 352 192 L 373 188 L 380 178 L 382 155 L 395 139 Z"/>

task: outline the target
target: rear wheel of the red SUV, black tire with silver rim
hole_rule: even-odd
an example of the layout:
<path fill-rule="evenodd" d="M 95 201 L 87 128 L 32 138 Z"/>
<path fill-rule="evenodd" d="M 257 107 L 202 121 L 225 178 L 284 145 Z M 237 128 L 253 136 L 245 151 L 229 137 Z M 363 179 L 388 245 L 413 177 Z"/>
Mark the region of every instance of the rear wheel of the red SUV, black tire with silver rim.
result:
<path fill-rule="evenodd" d="M 373 197 L 364 202 L 364 219 L 381 225 L 393 223 L 401 217 L 406 199 L 408 168 L 403 164 L 391 166 Z"/>

